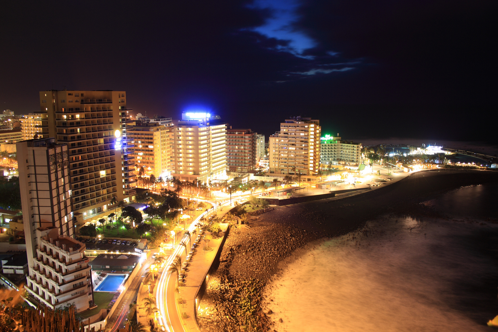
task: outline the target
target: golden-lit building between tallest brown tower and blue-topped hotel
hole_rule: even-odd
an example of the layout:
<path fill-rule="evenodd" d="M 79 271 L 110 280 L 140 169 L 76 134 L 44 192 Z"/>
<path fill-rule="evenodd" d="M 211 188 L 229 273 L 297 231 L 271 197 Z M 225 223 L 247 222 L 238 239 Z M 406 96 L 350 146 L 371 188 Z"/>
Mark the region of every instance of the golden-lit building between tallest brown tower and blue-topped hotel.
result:
<path fill-rule="evenodd" d="M 145 174 L 170 177 L 175 158 L 172 128 L 157 122 L 144 122 L 128 126 L 128 138 L 133 140 L 135 169 L 144 168 Z M 138 174 L 138 173 L 136 173 Z"/>

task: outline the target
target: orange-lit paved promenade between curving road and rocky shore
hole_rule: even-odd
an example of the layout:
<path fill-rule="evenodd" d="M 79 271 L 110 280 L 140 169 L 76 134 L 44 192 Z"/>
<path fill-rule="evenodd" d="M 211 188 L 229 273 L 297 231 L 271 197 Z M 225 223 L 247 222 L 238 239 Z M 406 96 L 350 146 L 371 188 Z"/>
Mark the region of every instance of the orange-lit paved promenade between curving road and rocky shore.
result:
<path fill-rule="evenodd" d="M 179 296 L 183 299 L 183 303 L 178 304 L 178 314 L 185 331 L 201 331 L 199 329 L 199 326 L 197 325 L 197 320 L 195 318 L 195 299 L 197 297 L 199 289 L 204 282 L 204 279 L 206 279 L 211 265 L 214 262 L 218 250 L 220 250 L 220 246 L 223 242 L 226 230 L 228 228 L 228 223 L 222 223 L 220 224 L 220 226 L 223 231 L 223 233 L 220 232 L 220 234 L 223 235 L 219 238 L 213 238 L 209 242 L 209 246 L 213 248 L 213 250 L 204 251 L 202 248 L 202 244 L 198 246 L 198 249 L 190 260 L 190 266 L 188 267 L 188 271 L 184 279 L 184 285 L 178 287 Z M 182 317 L 183 313 L 187 314 L 187 318 Z"/>

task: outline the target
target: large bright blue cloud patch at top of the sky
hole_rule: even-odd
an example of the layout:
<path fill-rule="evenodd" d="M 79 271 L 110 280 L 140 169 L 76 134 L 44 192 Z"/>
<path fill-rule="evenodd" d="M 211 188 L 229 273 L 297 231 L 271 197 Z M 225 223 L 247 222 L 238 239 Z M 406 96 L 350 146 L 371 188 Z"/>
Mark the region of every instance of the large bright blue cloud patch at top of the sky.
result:
<path fill-rule="evenodd" d="M 280 51 L 292 53 L 299 57 L 313 58 L 303 55 L 304 51 L 313 48 L 317 42 L 298 31 L 294 23 L 299 20 L 297 9 L 300 3 L 297 0 L 255 0 L 249 5 L 251 9 L 268 9 L 272 15 L 267 18 L 263 25 L 253 27 L 250 30 L 260 33 L 268 38 L 284 40 L 286 43 L 279 44 L 276 48 Z"/>

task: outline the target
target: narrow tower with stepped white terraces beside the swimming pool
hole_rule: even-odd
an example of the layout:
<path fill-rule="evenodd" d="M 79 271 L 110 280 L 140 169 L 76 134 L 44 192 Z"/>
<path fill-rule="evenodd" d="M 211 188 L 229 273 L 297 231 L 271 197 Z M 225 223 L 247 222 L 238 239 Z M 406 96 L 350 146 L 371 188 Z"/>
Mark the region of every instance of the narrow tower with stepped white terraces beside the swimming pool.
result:
<path fill-rule="evenodd" d="M 16 144 L 28 258 L 25 289 L 51 308 L 93 307 L 85 244 L 74 238 L 69 148 L 55 138 Z"/>

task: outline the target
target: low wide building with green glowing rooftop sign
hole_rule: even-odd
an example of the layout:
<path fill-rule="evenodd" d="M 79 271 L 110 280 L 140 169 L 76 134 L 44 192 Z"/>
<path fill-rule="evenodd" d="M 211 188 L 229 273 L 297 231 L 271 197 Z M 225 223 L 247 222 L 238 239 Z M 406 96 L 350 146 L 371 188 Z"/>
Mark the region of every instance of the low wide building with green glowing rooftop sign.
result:
<path fill-rule="evenodd" d="M 362 143 L 343 141 L 325 135 L 320 138 L 320 163 L 325 165 L 358 166 L 361 161 Z"/>

